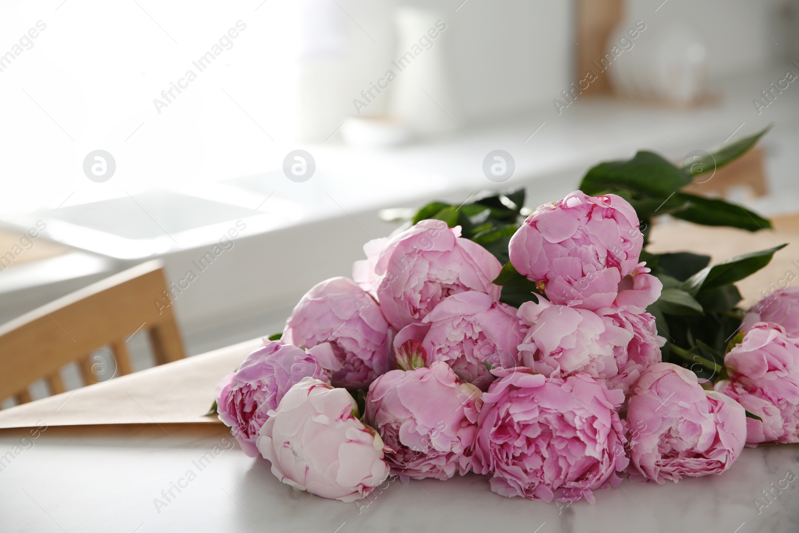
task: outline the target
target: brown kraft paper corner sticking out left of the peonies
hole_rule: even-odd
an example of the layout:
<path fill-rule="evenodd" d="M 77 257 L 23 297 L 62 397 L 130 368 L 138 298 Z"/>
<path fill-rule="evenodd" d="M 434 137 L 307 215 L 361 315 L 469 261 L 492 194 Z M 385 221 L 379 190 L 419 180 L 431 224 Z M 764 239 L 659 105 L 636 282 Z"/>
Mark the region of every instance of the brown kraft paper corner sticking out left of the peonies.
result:
<path fill-rule="evenodd" d="M 248 340 L 0 411 L 0 428 L 94 424 L 221 424 L 213 391 L 249 352 Z"/>

